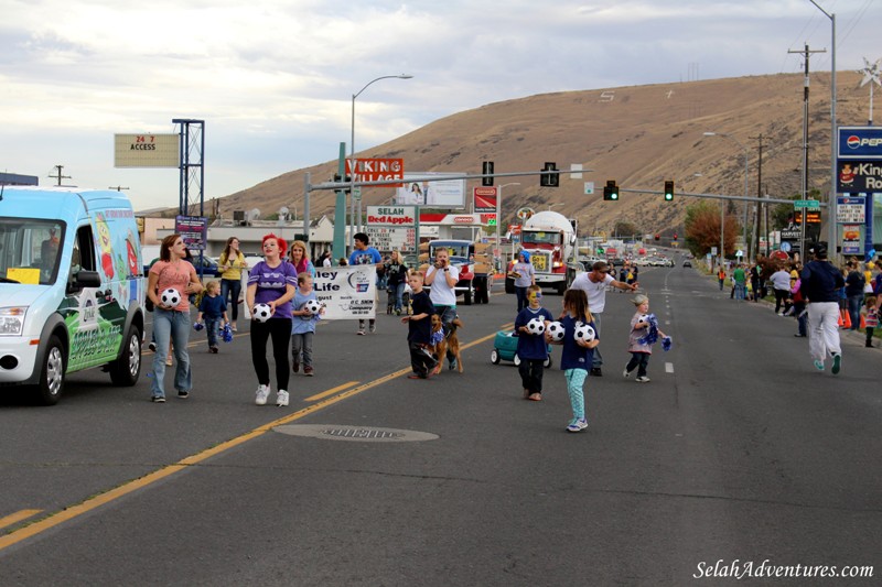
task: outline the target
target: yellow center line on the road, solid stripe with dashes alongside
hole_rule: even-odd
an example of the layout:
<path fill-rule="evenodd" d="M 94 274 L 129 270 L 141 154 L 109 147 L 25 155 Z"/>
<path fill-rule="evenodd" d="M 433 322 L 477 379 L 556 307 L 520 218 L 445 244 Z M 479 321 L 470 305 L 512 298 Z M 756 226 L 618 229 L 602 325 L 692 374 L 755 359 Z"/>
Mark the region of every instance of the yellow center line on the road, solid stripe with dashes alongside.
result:
<path fill-rule="evenodd" d="M 485 340 L 490 340 L 491 338 L 493 338 L 495 336 L 496 336 L 496 333 L 494 333 L 492 335 L 488 335 L 488 336 L 485 336 L 483 338 L 478 338 L 477 340 L 473 340 L 473 341 L 469 343 L 467 345 L 463 345 L 462 348 L 463 349 L 471 348 L 471 347 L 473 347 L 475 345 L 480 345 L 481 343 L 484 343 Z M 254 438 L 262 436 L 265 433 L 271 431 L 272 428 L 275 428 L 277 426 L 280 426 L 282 424 L 289 424 L 291 422 L 295 422 L 295 421 L 298 421 L 298 420 L 300 420 L 302 417 L 305 417 L 309 414 L 312 414 L 313 412 L 318 412 L 319 410 L 322 410 L 324 407 L 333 405 L 333 404 L 335 404 L 337 402 L 341 402 L 341 401 L 343 401 L 343 400 L 345 400 L 347 398 L 352 398 L 353 395 L 357 395 L 358 393 L 362 393 L 363 391 L 367 391 L 367 390 L 369 390 L 372 388 L 376 388 L 377 385 L 380 385 L 383 383 L 391 381 L 392 379 L 397 379 L 397 378 L 399 378 L 399 377 L 401 377 L 401 376 L 404 376 L 406 373 L 409 373 L 410 371 L 411 371 L 410 367 L 408 367 L 406 369 L 399 369 L 398 371 L 394 371 L 391 373 L 383 376 L 383 377 L 380 377 L 378 379 L 375 379 L 374 381 L 369 381 L 367 383 L 363 383 L 361 385 L 352 388 L 348 391 L 344 391 L 343 393 L 340 393 L 338 395 L 333 395 L 331 398 L 326 398 L 326 399 L 324 399 L 324 400 L 322 400 L 322 401 L 320 401 L 318 403 L 314 403 L 314 404 L 312 404 L 310 406 L 303 407 L 302 410 L 298 410 L 297 412 L 294 412 L 292 414 L 289 414 L 287 416 L 280 417 L 278 420 L 273 420 L 272 422 L 269 422 L 267 424 L 258 426 L 257 428 L 255 428 L 255 430 L 252 430 L 250 432 L 247 432 L 247 433 L 245 433 L 245 434 L 243 434 L 240 436 L 237 436 L 235 438 L 232 438 L 229 441 L 220 443 L 220 444 L 218 444 L 216 446 L 213 446 L 212 448 L 207 448 L 205 450 L 202 450 L 201 453 L 196 453 L 195 455 L 191 455 L 189 457 L 182 458 L 181 460 L 179 460 L 175 464 L 168 465 L 168 466 L 165 466 L 165 467 L 163 467 L 163 468 L 161 468 L 159 470 L 150 472 L 150 474 L 148 474 L 148 475 L 146 475 L 143 477 L 140 477 L 138 479 L 132 479 L 131 481 L 128 481 L 128 482 L 126 482 L 126 483 L 123 483 L 123 485 L 121 485 L 121 486 L 119 486 L 119 487 L 117 487 L 115 489 L 110 489 L 110 490 L 105 491 L 104 493 L 100 493 L 100 494 L 95 496 L 93 498 L 89 498 L 89 499 L 87 499 L 87 500 L 85 500 L 85 501 L 83 501 L 83 502 L 80 502 L 80 503 L 78 503 L 76 506 L 67 507 L 63 511 L 53 513 L 53 514 L 51 514 L 51 515 L 49 515 L 49 517 L 46 517 L 46 518 L 44 518 L 44 519 L 42 519 L 42 520 L 40 520 L 37 522 L 34 522 L 33 524 L 29 524 L 29 525 L 26 525 L 24 528 L 21 528 L 19 530 L 10 532 L 9 534 L 0 536 L 0 551 L 7 548 L 9 546 L 12 546 L 14 544 L 18 544 L 18 543 L 20 543 L 20 542 L 22 542 L 22 541 L 24 541 L 24 540 L 26 540 L 26 539 L 29 539 L 31 536 L 35 536 L 36 534 L 40 534 L 41 532 L 45 532 L 46 530 L 55 528 L 56 525 L 62 524 L 64 522 L 67 522 L 68 520 L 73 520 L 74 518 L 83 515 L 84 513 L 88 513 L 88 512 L 90 512 L 93 510 L 96 510 L 96 509 L 100 508 L 101 506 L 110 503 L 111 501 L 115 501 L 115 500 L 117 500 L 119 498 L 122 498 L 123 496 L 127 496 L 127 494 L 129 494 L 129 493 L 131 493 L 133 491 L 137 491 L 139 489 L 143 489 L 144 487 L 148 487 L 148 486 L 150 486 L 150 485 L 152 485 L 152 483 L 154 483 L 154 482 L 157 482 L 157 481 L 159 481 L 161 479 L 164 479 L 165 477 L 169 477 L 170 475 L 173 475 L 175 472 L 184 470 L 187 467 L 191 467 L 193 465 L 197 465 L 197 464 L 200 464 L 200 463 L 202 463 L 202 461 L 204 461 L 204 460 L 206 460 L 206 459 L 208 459 L 208 458 L 211 458 L 213 456 L 216 456 L 216 455 L 219 455 L 219 454 L 222 454 L 222 453 L 224 453 L 226 450 L 229 450 L 230 448 L 233 448 L 235 446 L 238 446 L 238 445 L 244 444 L 244 443 L 246 443 L 248 441 L 251 441 Z M 345 389 L 346 387 L 349 387 L 353 383 L 356 383 L 356 382 L 349 382 L 349 383 L 340 385 L 337 388 L 334 388 L 334 390 L 329 390 L 327 392 L 324 392 L 324 394 L 332 393 L 332 392 L 337 391 L 340 389 Z M 23 520 L 24 518 L 28 518 L 28 517 L 33 515 L 35 513 L 39 513 L 42 510 L 24 510 L 24 511 L 31 512 L 31 513 L 29 513 L 28 515 L 24 515 L 23 518 L 19 518 L 17 520 L 8 521 L 12 517 L 23 513 L 23 512 L 19 512 L 19 514 L 12 514 L 12 515 L 9 515 L 7 518 L 0 519 L 0 522 L 7 522 L 6 525 L 10 525 L 12 523 L 15 523 L 18 521 Z M 2 524 L 0 524 L 0 528 L 2 528 Z"/>

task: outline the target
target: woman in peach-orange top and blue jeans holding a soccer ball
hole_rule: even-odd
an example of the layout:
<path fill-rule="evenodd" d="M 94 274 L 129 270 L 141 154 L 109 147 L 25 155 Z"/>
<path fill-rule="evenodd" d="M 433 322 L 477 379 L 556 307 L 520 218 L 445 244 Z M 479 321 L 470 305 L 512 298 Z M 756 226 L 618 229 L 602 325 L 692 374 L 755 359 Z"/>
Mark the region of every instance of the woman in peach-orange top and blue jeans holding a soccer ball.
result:
<path fill-rule="evenodd" d="M 186 247 L 181 235 L 169 235 L 162 239 L 159 261 L 148 273 L 147 295 L 153 302 L 153 335 L 157 352 L 153 355 L 153 378 L 150 393 L 155 403 L 165 402 L 165 357 L 174 341 L 174 356 L 178 367 L 174 371 L 174 389 L 179 398 L 190 396 L 193 374 L 186 345 L 190 341 L 190 296 L 202 291 L 202 283 L 192 263 L 185 261 Z M 173 289 L 180 295 L 175 306 L 162 302 L 161 292 Z"/>

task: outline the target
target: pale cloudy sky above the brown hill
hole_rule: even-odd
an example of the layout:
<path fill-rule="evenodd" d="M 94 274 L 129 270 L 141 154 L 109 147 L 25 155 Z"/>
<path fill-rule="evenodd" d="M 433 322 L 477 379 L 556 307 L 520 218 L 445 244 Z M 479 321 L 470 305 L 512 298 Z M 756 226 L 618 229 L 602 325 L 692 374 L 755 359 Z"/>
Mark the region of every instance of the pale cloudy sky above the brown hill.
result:
<path fill-rule="evenodd" d="M 882 0 L 836 15 L 837 69 L 882 57 Z M 0 0 L 0 171 L 178 205 L 176 169 L 114 166 L 117 133 L 205 121 L 206 203 L 486 104 L 830 70 L 810 0 Z M 372 80 L 407 74 L 411 79 Z M 882 101 L 878 91 L 876 101 Z M 869 90 L 868 90 L 869 101 Z M 348 151 L 348 146 L 347 146 Z M 416 170 L 415 170 L 416 171 Z M 478 172 L 480 170 L 463 170 Z"/>

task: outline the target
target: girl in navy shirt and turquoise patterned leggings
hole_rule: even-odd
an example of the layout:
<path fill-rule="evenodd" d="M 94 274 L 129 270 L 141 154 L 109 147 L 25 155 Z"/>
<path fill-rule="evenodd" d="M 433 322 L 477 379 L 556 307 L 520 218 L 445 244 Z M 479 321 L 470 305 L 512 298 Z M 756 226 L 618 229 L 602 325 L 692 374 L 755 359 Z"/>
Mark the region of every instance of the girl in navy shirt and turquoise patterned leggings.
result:
<path fill-rule="evenodd" d="M 563 345 L 560 357 L 560 369 L 567 378 L 567 393 L 570 395 L 572 405 L 572 421 L 567 426 L 567 432 L 581 432 L 588 427 L 585 420 L 585 399 L 582 385 L 591 369 L 591 359 L 594 355 L 594 347 L 600 344 L 599 338 L 591 343 L 576 340 L 573 333 L 577 325 L 588 324 L 594 328 L 594 319 L 588 311 L 588 296 L 582 290 L 567 290 L 563 293 L 563 312 L 566 316 L 561 318 L 563 324 L 563 340 L 557 344 Z M 596 333 L 596 328 L 594 328 Z M 546 340 L 552 343 L 551 336 L 546 335 Z"/>

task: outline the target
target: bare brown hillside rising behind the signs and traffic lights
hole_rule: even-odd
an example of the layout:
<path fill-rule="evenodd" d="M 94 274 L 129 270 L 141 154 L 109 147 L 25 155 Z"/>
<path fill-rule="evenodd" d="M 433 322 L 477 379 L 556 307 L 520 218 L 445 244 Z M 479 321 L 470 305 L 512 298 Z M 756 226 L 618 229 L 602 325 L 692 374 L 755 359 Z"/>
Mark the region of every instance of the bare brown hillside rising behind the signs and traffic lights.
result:
<path fill-rule="evenodd" d="M 811 76 L 809 107 L 809 185 L 825 193 L 830 175 L 829 79 L 829 73 Z M 869 93 L 858 88 L 860 76 L 840 73 L 837 80 L 839 122 L 865 123 Z M 520 206 L 545 209 L 563 203 L 556 210 L 578 217 L 583 233 L 609 230 L 620 219 L 643 232 L 660 232 L 679 227 L 695 199 L 676 197 L 668 204 L 660 195 L 623 193 L 619 203 L 604 203 L 606 180 L 616 180 L 622 188 L 660 192 L 664 180 L 673 178 L 677 192 L 742 195 L 744 151 L 730 139 L 702 135 L 713 131 L 729 133 L 747 148 L 749 192 L 755 195 L 762 134 L 766 192 L 796 194 L 802 112 L 802 74 L 544 94 L 449 116 L 357 156 L 404 157 L 409 173 L 475 174 L 485 160 L 495 162 L 496 173 L 539 170 L 546 161 L 563 170 L 582 163 L 593 172 L 583 180 L 562 174 L 558 188 L 539 187 L 538 177 L 497 180 L 497 185 L 521 184 L 505 189 L 504 220 L 510 221 Z M 336 169 L 336 161 L 329 161 L 224 197 L 222 215 L 228 218 L 233 210 L 254 207 L 266 213 L 292 203 L 302 209 L 303 173 L 311 172 L 319 183 Z M 583 195 L 584 181 L 594 182 L 594 195 Z M 366 188 L 364 203 L 381 204 L 390 196 L 389 188 Z M 314 192 L 310 206 L 312 217 L 332 214 L 333 195 Z"/>

